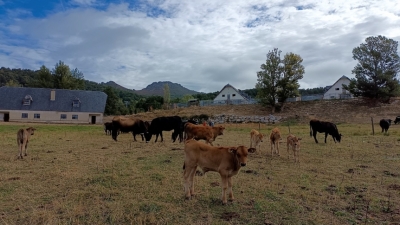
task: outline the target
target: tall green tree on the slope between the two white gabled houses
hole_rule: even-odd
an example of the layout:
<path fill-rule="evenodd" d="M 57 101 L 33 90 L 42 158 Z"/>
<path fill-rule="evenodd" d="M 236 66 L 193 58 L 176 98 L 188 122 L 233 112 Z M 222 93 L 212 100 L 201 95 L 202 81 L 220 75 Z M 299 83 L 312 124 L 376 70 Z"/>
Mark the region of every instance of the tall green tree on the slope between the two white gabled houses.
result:
<path fill-rule="evenodd" d="M 257 97 L 262 105 L 283 109 L 287 98 L 298 96 L 299 79 L 303 78 L 303 59 L 294 53 L 287 53 L 281 59 L 281 52 L 277 48 L 269 51 L 265 64 L 257 72 Z M 277 104 L 279 102 L 280 104 Z"/>

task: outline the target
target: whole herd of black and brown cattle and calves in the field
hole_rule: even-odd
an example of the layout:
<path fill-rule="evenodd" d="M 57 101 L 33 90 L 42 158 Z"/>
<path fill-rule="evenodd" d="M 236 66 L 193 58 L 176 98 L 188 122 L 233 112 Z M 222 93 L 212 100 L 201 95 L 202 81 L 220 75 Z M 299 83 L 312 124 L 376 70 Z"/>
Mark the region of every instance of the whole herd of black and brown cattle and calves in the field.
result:
<path fill-rule="evenodd" d="M 380 121 L 379 124 L 382 128 L 382 132 L 387 132 L 391 122 L 391 119 L 382 119 Z M 400 116 L 396 117 L 394 123 L 400 123 Z M 27 145 L 30 136 L 34 134 L 35 130 L 35 128 L 29 127 L 18 131 L 18 158 L 22 159 L 23 151 L 25 151 L 25 156 L 27 155 Z M 134 141 L 137 141 L 136 135 L 138 134 L 141 135 L 142 141 L 146 140 L 146 143 L 151 140 L 153 135 L 156 135 L 155 142 L 157 142 L 159 136 L 161 141 L 163 141 L 162 132 L 173 131 L 171 137 L 173 142 L 175 142 L 178 137 L 179 142 L 185 140 L 185 160 L 183 165 L 185 197 L 190 199 L 195 194 L 193 179 L 196 169 L 200 167 L 203 170 L 203 173 L 214 171 L 220 174 L 222 181 L 221 199 L 223 204 L 226 204 L 226 194 L 228 194 L 230 200 L 233 200 L 232 177 L 239 172 L 241 167 L 246 166 L 247 156 L 249 153 L 254 153 L 257 149 L 260 151 L 260 144 L 265 135 L 255 129 L 251 130 L 250 148 L 245 146 L 213 146 L 216 137 L 223 135 L 224 130 L 225 127 L 221 125 L 198 125 L 198 121 L 183 121 L 179 116 L 157 117 L 151 122 L 136 118 L 116 116 L 113 118 L 112 122 L 104 124 L 105 133 L 107 135 L 111 134 L 115 141 L 117 141 L 117 137 L 120 133 L 128 132 L 132 133 Z M 316 143 L 318 143 L 316 138 L 317 132 L 325 133 L 325 143 L 328 134 L 332 136 L 335 143 L 336 141 L 341 141 L 342 134 L 339 133 L 334 123 L 319 121 L 316 119 L 310 120 L 310 136 L 314 137 Z M 198 140 L 205 140 L 205 143 L 199 142 Z M 271 156 L 273 156 L 274 153 L 278 156 L 280 155 L 280 140 L 282 140 L 281 132 L 277 127 L 275 127 L 272 129 L 270 134 Z M 301 138 L 289 134 L 286 140 L 288 158 L 290 158 L 290 150 L 292 150 L 294 161 L 299 162 Z"/>

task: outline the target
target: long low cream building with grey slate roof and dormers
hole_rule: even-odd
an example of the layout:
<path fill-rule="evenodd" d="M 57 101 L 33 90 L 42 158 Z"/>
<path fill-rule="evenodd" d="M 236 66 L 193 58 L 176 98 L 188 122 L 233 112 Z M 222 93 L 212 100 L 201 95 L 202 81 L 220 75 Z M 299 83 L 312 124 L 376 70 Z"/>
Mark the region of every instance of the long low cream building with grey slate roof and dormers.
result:
<path fill-rule="evenodd" d="M 0 121 L 101 124 L 106 101 L 100 91 L 0 87 Z"/>

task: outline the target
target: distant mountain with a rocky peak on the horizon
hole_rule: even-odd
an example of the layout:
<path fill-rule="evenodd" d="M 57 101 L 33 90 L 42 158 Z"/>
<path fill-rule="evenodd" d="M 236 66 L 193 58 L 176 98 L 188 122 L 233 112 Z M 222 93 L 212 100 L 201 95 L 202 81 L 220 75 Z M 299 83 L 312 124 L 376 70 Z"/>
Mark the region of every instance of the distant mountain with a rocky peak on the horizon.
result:
<path fill-rule="evenodd" d="M 172 83 L 170 81 L 153 82 L 142 90 L 135 90 L 139 95 L 151 96 L 158 95 L 164 96 L 164 85 L 168 84 L 171 98 L 182 97 L 184 95 L 194 95 L 200 92 L 189 90 L 180 84 Z"/>

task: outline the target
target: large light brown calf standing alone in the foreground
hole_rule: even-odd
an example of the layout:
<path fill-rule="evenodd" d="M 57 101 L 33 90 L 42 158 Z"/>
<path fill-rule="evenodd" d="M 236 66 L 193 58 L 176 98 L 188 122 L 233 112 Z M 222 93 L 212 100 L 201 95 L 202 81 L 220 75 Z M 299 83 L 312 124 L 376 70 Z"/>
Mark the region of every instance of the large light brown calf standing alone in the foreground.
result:
<path fill-rule="evenodd" d="M 222 203 L 226 204 L 226 192 L 229 199 L 233 200 L 232 176 L 236 175 L 242 166 L 246 166 L 248 153 L 253 153 L 254 148 L 239 147 L 214 147 L 196 140 L 185 141 L 184 183 L 185 196 L 190 199 L 194 193 L 193 178 L 199 166 L 203 173 L 208 171 L 218 172 L 222 181 Z"/>

